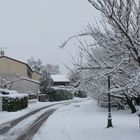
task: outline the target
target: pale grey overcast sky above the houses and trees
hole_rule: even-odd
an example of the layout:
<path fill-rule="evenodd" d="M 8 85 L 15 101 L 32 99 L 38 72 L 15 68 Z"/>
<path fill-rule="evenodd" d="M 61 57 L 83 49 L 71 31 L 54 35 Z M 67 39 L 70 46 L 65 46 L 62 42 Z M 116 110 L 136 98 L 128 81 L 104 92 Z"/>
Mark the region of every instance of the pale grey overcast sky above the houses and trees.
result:
<path fill-rule="evenodd" d="M 76 47 L 74 41 L 58 46 L 97 17 L 87 0 L 0 0 L 0 47 L 9 57 L 40 58 L 67 73 L 62 63 L 70 65 Z"/>

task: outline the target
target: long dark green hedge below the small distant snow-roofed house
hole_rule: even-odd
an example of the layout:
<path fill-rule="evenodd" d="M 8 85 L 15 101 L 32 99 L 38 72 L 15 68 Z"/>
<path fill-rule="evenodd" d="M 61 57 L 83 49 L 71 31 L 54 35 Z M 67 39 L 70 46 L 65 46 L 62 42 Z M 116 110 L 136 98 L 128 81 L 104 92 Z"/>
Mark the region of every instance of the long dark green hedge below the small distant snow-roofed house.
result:
<path fill-rule="evenodd" d="M 62 101 L 72 99 L 73 95 L 70 91 L 64 89 L 53 89 L 49 92 L 50 101 Z"/>

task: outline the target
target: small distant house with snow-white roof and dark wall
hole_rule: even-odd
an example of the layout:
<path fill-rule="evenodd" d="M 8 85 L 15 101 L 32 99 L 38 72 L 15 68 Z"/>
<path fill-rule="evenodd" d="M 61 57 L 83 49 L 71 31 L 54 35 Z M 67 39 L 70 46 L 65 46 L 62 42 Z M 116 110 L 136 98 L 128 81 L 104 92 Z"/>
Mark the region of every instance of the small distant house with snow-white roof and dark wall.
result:
<path fill-rule="evenodd" d="M 53 86 L 68 86 L 70 80 L 67 75 L 51 75 Z"/>

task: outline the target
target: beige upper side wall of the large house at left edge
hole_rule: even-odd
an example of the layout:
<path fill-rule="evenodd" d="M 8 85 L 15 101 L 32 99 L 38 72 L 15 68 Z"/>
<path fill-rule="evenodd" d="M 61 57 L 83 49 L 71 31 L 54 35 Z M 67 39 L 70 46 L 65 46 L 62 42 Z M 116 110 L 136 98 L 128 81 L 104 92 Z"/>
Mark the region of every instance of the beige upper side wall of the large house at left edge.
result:
<path fill-rule="evenodd" d="M 6 57 L 0 58 L 0 74 L 14 72 L 19 76 L 28 77 L 27 69 L 28 67 L 25 64 L 16 62 Z"/>

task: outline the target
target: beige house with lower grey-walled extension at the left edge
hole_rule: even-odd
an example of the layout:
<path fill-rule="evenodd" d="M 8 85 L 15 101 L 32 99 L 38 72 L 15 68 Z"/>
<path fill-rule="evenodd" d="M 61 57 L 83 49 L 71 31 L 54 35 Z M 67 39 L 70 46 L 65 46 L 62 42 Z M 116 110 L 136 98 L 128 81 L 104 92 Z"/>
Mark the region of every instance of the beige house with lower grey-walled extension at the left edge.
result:
<path fill-rule="evenodd" d="M 9 73 L 18 75 L 18 78 L 12 79 L 11 89 L 20 93 L 38 93 L 41 74 L 33 71 L 27 63 L 3 54 L 0 56 L 0 75 Z"/>

